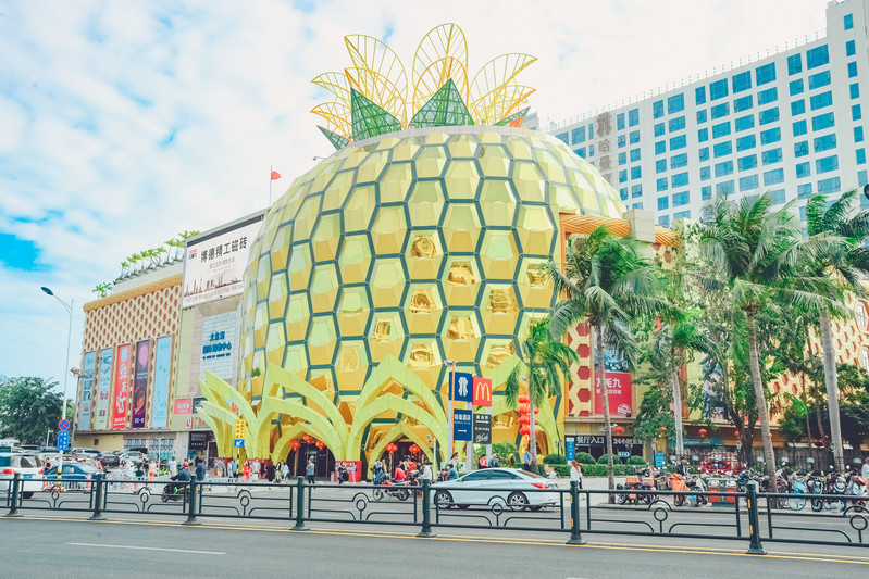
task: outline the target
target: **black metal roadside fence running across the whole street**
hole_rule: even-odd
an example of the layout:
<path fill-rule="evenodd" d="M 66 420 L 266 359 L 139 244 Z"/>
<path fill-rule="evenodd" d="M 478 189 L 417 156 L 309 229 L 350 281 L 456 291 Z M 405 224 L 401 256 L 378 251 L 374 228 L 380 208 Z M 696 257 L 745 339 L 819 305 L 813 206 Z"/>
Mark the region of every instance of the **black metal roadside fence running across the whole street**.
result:
<path fill-rule="evenodd" d="M 2 482 L 0 482 L 2 484 Z M 2 487 L 0 487 L 2 488 Z M 16 474 L 4 493 L 8 517 L 30 511 L 79 512 L 90 519 L 141 513 L 183 519 L 244 518 L 284 521 L 294 530 L 310 523 L 437 529 L 491 529 L 583 537 L 668 537 L 737 540 L 748 553 L 764 542 L 869 546 L 869 513 L 846 495 L 766 494 L 754 483 L 745 492 L 582 490 L 486 487 L 189 482 L 151 480 L 70 481 L 23 479 Z M 2 491 L 0 491 L 2 492 Z M 700 508 L 703 506 L 703 508 Z"/>

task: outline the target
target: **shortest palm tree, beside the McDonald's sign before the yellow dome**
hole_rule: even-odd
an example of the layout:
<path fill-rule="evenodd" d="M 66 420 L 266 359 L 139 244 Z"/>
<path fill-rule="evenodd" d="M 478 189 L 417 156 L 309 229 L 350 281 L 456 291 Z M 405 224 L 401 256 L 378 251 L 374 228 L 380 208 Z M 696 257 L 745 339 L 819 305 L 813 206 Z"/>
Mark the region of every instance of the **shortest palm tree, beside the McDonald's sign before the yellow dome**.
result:
<path fill-rule="evenodd" d="M 534 406 L 547 404 L 549 397 L 561 392 L 561 381 L 570 376 L 570 364 L 578 362 L 576 352 L 561 341 L 554 341 L 549 336 L 549 318 L 534 323 L 529 335 L 519 341 L 518 354 L 527 368 L 529 388 L 529 450 L 531 452 L 532 471 L 537 471 L 537 435 L 534 426 Z M 521 365 L 517 364 L 507 377 L 504 391 L 507 402 L 516 406 L 519 391 L 524 382 Z M 548 407 L 548 405 L 547 405 Z"/>

